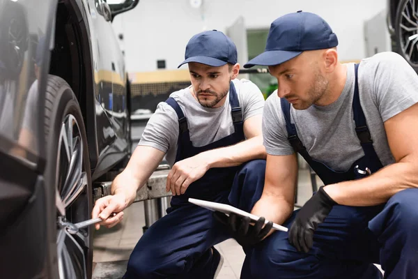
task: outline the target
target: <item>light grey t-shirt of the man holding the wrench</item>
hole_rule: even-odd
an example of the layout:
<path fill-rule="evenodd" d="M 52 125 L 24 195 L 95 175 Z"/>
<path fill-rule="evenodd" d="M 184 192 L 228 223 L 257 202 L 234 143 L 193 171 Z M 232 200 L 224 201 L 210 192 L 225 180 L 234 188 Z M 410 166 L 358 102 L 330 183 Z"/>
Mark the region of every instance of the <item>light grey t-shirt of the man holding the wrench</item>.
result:
<path fill-rule="evenodd" d="M 249 80 L 233 80 L 235 91 L 242 108 L 242 120 L 263 113 L 264 98 L 260 89 Z M 234 132 L 229 93 L 222 107 L 203 107 L 192 96 L 190 87 L 171 93 L 171 98 L 180 105 L 189 127 L 193 146 L 205 146 Z M 178 117 L 167 103 L 162 102 L 148 121 L 138 145 L 152 146 L 167 153 L 170 165 L 174 164 L 177 153 Z"/>

